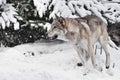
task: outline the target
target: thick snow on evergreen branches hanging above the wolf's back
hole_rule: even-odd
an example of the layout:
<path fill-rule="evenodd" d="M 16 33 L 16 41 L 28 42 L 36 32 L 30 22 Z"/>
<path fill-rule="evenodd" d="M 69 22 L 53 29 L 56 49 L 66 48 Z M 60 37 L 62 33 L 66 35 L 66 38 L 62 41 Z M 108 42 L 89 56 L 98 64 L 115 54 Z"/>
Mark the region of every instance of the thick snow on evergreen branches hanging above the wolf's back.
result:
<path fill-rule="evenodd" d="M 39 16 L 42 18 L 47 10 L 53 6 L 49 18 L 55 14 L 63 17 L 84 17 L 86 15 L 97 15 L 106 23 L 107 19 L 120 22 L 120 4 L 102 3 L 103 0 L 33 0 Z M 104 17 L 103 17 L 104 16 Z"/>

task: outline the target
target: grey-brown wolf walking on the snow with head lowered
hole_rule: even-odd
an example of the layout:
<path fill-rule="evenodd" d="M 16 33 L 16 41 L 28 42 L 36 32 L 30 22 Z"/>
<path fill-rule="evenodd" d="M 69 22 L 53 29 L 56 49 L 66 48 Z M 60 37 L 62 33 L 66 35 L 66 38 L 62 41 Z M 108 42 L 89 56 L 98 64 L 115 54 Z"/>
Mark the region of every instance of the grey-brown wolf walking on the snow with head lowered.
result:
<path fill-rule="evenodd" d="M 94 68 L 97 64 L 93 45 L 99 42 L 106 54 L 106 69 L 110 67 L 107 24 L 99 17 L 89 15 L 82 18 L 63 18 L 56 15 L 48 31 L 48 37 L 54 39 L 59 35 L 64 35 L 73 44 L 83 66 L 86 65 L 89 56 Z"/>

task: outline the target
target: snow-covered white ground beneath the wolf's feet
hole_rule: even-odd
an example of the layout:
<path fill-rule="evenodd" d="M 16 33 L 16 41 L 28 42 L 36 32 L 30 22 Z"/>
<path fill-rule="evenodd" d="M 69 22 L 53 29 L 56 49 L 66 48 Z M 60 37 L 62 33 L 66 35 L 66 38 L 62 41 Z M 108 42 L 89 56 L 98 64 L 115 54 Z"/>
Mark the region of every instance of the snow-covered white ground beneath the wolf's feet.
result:
<path fill-rule="evenodd" d="M 60 40 L 38 41 L 13 48 L 0 48 L 0 80 L 120 80 L 120 50 L 109 47 L 111 68 L 105 69 L 105 54 L 97 50 L 99 72 L 87 62 L 90 70 L 83 75 L 79 57 L 73 47 Z"/>

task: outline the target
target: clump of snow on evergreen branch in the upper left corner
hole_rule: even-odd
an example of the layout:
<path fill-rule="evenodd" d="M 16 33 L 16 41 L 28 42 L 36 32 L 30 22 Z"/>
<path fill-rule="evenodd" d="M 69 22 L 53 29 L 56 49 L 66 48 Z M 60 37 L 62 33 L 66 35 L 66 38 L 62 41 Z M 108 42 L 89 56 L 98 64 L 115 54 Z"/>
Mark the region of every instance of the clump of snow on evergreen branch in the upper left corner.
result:
<path fill-rule="evenodd" d="M 2 29 L 10 27 L 11 24 L 14 29 L 19 29 L 19 22 L 17 21 L 18 14 L 13 4 L 6 3 L 6 0 L 0 0 L 0 26 Z"/>

